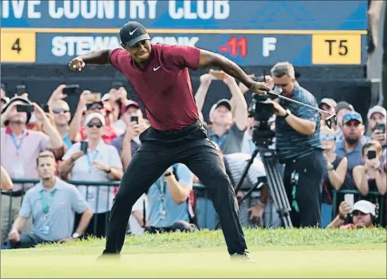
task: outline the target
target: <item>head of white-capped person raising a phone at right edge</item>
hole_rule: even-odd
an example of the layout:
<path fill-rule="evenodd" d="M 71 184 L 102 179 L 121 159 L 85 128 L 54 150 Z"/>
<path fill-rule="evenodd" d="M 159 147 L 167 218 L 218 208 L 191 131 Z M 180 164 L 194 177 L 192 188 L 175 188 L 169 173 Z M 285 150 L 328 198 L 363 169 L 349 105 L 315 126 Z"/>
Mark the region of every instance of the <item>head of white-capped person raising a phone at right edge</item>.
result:
<path fill-rule="evenodd" d="M 368 130 L 371 140 L 377 140 L 380 142 L 381 147 L 386 149 L 387 142 L 387 111 L 381 106 L 375 106 L 369 109 L 368 114 Z"/>

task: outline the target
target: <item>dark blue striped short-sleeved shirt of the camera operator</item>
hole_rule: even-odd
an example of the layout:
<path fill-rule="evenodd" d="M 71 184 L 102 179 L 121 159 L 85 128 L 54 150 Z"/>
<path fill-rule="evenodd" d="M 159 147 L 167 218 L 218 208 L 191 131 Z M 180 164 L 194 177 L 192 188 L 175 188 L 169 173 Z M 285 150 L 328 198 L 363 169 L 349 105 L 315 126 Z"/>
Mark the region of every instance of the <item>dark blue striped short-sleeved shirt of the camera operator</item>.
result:
<path fill-rule="evenodd" d="M 316 98 L 297 82 L 294 85 L 293 95 L 290 98 L 313 107 L 318 107 Z M 320 141 L 320 114 L 314 109 L 292 102 L 280 100 L 280 104 L 284 109 L 289 109 L 294 116 L 315 122 L 316 130 L 313 135 L 302 135 L 291 128 L 286 119 L 277 117 L 275 119 L 275 145 L 278 158 L 280 160 L 288 160 L 309 154 L 314 149 L 322 149 Z"/>

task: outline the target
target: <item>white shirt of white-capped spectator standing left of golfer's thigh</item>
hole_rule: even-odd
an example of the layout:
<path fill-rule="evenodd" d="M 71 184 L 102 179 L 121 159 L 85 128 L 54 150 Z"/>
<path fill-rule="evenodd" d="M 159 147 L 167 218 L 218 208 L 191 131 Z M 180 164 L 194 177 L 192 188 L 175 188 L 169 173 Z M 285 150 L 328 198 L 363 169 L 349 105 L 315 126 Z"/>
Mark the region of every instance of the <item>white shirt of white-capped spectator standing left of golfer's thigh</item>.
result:
<path fill-rule="evenodd" d="M 79 151 L 81 143 L 77 142 L 63 156 L 63 161 L 68 160 L 72 154 Z M 109 175 L 103 170 L 97 170 L 93 166 L 93 161 L 109 165 L 110 168 L 122 169 L 121 158 L 117 149 L 110 144 L 105 144 L 102 140 L 98 144 L 96 151 L 89 151 L 74 162 L 71 170 L 72 180 L 84 180 L 88 182 L 111 182 Z M 88 205 L 95 213 L 110 211 L 114 198 L 113 186 L 78 186 L 81 195 L 86 199 Z M 97 204 L 98 199 L 98 204 Z"/>

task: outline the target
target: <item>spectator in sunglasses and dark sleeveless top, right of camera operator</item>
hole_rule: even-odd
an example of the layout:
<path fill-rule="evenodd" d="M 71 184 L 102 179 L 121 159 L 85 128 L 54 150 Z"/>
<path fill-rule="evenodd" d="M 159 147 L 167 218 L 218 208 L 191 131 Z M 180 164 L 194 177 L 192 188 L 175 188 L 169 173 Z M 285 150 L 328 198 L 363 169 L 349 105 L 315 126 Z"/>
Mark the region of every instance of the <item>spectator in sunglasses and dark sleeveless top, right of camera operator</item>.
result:
<path fill-rule="evenodd" d="M 336 135 L 335 131 L 324 125 L 320 130 L 320 139 L 324 155 L 327 158 L 327 173 L 322 181 L 322 227 L 326 228 L 332 222 L 332 190 L 341 188 L 346 178 L 348 160 L 336 154 Z"/>

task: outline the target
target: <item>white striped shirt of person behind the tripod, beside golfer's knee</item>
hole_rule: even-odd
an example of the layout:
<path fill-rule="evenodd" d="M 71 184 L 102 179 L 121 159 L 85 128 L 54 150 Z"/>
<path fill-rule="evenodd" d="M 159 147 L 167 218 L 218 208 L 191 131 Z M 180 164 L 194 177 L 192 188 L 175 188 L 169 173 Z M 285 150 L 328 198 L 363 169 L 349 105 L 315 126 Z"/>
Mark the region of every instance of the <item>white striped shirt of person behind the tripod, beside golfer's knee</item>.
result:
<path fill-rule="evenodd" d="M 242 177 L 242 173 L 244 168 L 247 165 L 247 162 L 251 156 L 249 154 L 244 153 L 233 153 L 224 155 L 224 160 L 226 161 L 226 165 L 228 166 L 228 171 L 230 172 L 230 178 L 232 179 L 233 186 L 236 187 L 237 183 L 240 181 Z M 249 168 L 249 172 L 247 173 L 246 178 L 244 179 L 241 190 L 249 190 L 254 186 L 257 186 L 258 179 L 260 177 L 265 177 L 265 167 L 260 159 L 254 158 L 254 162 L 251 164 Z"/>

